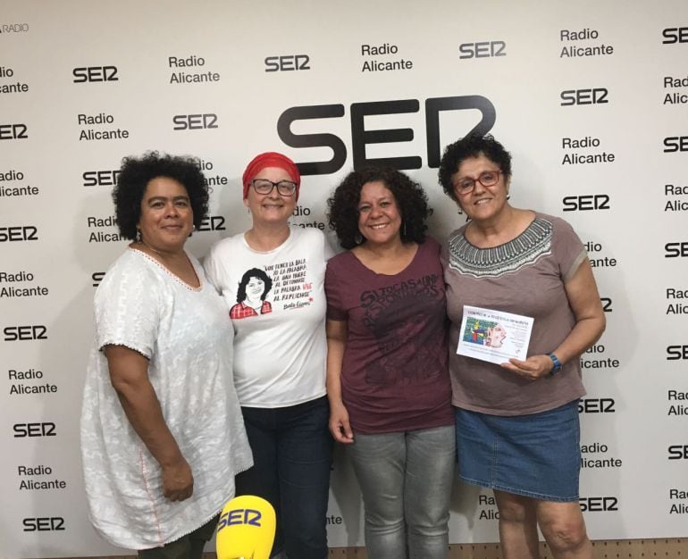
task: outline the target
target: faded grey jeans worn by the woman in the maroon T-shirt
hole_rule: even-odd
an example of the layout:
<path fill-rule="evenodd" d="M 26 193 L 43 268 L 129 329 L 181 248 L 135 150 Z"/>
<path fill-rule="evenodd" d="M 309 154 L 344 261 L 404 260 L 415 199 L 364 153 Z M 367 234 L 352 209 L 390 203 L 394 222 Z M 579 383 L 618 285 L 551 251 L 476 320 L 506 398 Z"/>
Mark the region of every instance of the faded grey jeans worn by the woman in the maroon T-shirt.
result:
<path fill-rule="evenodd" d="M 363 494 L 368 557 L 446 559 L 454 426 L 356 434 L 347 452 Z"/>

